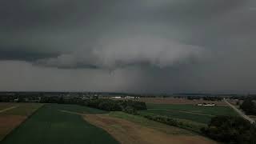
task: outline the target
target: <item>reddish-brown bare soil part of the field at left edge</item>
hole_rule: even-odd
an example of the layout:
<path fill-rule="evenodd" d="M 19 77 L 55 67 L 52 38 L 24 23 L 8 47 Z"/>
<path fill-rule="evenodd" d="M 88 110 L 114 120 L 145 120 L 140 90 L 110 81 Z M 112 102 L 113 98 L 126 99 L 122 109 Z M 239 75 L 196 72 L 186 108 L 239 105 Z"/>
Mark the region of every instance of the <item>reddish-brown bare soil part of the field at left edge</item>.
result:
<path fill-rule="evenodd" d="M 26 116 L 20 115 L 0 116 L 0 141 L 6 136 L 6 134 L 9 134 L 11 130 L 14 130 L 14 128 L 19 126 L 25 119 Z"/>

